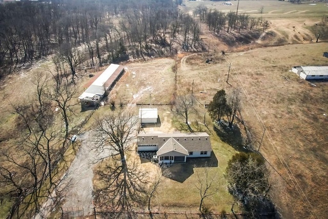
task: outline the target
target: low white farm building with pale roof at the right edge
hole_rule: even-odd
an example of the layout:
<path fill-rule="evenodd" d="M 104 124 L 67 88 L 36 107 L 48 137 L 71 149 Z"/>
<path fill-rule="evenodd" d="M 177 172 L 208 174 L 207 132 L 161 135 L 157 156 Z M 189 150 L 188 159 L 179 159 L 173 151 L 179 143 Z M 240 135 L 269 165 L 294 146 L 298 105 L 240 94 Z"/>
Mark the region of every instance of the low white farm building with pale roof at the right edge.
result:
<path fill-rule="evenodd" d="M 295 66 L 292 71 L 305 80 L 328 79 L 328 66 Z"/>

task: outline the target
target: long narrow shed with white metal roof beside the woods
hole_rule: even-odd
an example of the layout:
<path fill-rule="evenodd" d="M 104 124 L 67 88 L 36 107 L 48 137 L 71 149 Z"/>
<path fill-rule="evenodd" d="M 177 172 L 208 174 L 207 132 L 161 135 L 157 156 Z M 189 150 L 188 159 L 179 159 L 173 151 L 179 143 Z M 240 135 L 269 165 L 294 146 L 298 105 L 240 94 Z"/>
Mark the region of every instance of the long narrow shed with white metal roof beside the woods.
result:
<path fill-rule="evenodd" d="M 124 67 L 111 64 L 99 77 L 78 97 L 81 107 L 98 106 L 101 98 L 111 90 L 119 77 L 124 73 Z"/>

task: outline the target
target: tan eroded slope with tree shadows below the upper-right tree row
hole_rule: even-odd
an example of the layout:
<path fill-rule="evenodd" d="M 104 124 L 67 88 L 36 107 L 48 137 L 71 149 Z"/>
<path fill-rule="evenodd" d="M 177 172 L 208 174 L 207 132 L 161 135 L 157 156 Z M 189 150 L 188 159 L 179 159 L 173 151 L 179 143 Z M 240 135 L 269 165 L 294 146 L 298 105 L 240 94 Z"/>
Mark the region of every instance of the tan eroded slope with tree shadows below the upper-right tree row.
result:
<path fill-rule="evenodd" d="M 219 34 L 210 32 L 207 25 L 201 25 L 201 35 L 204 47 L 210 52 L 238 52 L 254 48 L 282 46 L 285 44 L 314 43 L 315 37 L 311 32 L 315 22 L 311 19 L 272 19 L 269 28 L 238 30 Z M 258 27 L 259 28 L 259 27 Z"/>

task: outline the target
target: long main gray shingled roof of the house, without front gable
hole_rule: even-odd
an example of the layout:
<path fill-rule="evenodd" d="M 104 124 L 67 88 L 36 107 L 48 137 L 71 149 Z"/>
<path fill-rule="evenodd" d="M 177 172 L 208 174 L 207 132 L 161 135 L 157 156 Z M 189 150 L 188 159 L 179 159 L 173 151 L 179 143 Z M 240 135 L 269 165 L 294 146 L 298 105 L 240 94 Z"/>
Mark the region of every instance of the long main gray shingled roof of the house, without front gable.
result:
<path fill-rule="evenodd" d="M 210 135 L 206 132 L 140 133 L 137 136 L 137 145 L 158 145 L 160 149 L 171 137 L 187 151 L 212 151 Z"/>

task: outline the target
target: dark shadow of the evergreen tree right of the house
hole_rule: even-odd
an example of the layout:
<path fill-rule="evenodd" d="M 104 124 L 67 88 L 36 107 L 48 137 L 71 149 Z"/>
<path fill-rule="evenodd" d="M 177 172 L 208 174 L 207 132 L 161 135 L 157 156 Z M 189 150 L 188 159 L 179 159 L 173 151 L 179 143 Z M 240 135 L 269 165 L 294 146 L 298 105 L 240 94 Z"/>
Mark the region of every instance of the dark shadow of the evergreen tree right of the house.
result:
<path fill-rule="evenodd" d="M 213 125 L 213 130 L 223 142 L 231 145 L 237 151 L 249 152 L 238 126 L 234 125 L 233 128 L 230 129 L 223 122 L 219 122 L 219 124 Z"/>

